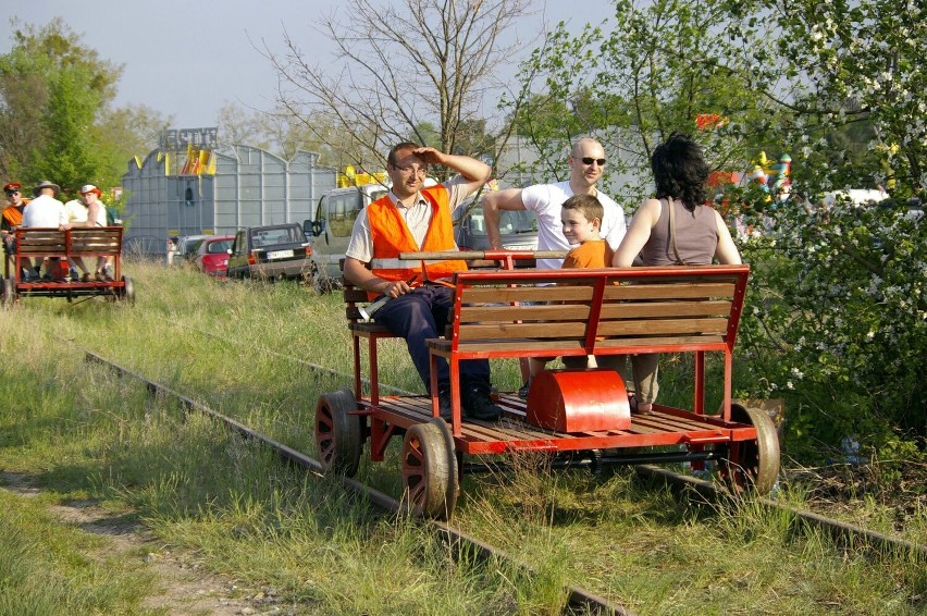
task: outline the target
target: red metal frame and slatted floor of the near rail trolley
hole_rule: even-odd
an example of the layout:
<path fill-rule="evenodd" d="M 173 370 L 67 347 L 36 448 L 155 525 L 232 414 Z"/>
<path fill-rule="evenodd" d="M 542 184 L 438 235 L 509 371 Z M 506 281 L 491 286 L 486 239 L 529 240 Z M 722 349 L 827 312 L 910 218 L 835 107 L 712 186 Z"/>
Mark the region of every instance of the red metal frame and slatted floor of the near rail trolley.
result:
<path fill-rule="evenodd" d="M 699 344 L 669 344 L 609 348 L 607 342 L 598 340 L 597 328 L 605 295 L 605 288 L 611 281 L 609 276 L 620 273 L 622 281 L 633 282 L 643 278 L 679 276 L 683 269 L 680 268 L 633 268 L 629 270 L 515 270 L 511 269 L 512 261 L 517 258 L 531 258 L 533 254 L 527 252 L 485 252 L 484 259 L 495 259 L 504 262 L 509 269 L 506 270 L 481 270 L 460 272 L 455 281 L 455 319 L 452 323 L 453 334 L 450 340 L 450 352 L 447 356 L 450 382 L 452 382 L 452 433 L 455 447 L 458 453 L 470 455 L 502 454 L 512 451 L 578 451 L 592 448 L 621 448 L 657 445 L 687 445 L 692 449 L 699 449 L 706 444 L 728 443 L 731 447 L 737 446 L 739 441 L 756 439 L 756 430 L 749 424 L 730 421 L 731 384 L 732 384 L 732 353 L 736 334 L 742 311 L 743 298 L 746 289 L 746 280 L 750 268 L 747 266 L 713 266 L 709 269 L 701 268 L 700 274 L 721 274 L 737 278 L 734 297 L 731 313 L 728 319 L 727 336 L 724 342 L 700 342 Z M 687 268 L 685 270 L 694 270 Z M 464 305 L 464 289 L 469 286 L 479 285 L 481 282 L 510 281 L 511 284 L 533 284 L 543 278 L 544 282 L 569 282 L 570 279 L 586 279 L 598 276 L 593 292 L 590 327 L 585 333 L 584 347 L 580 349 L 564 348 L 556 355 L 605 355 L 605 354 L 631 354 L 631 353 L 677 353 L 691 352 L 695 354 L 695 378 L 693 410 L 654 405 L 655 414 L 652 416 L 634 416 L 629 430 L 616 430 L 606 432 L 588 433 L 558 433 L 542 428 L 527 424 L 523 419 L 526 402 L 514 394 L 503 394 L 498 399 L 499 406 L 506 410 L 508 419 L 499 424 L 482 422 L 462 422 L 460 392 L 456 383 L 459 383 L 459 362 L 466 359 L 496 359 L 496 358 L 527 358 L 536 355 L 534 350 L 528 349 L 493 349 L 493 350 L 468 350 L 466 345 L 460 344 L 458 335 L 458 315 Z M 359 337 L 368 338 L 368 360 L 371 382 L 371 395 L 364 398 L 361 394 L 361 368 Z M 382 461 L 390 439 L 396 434 L 397 429 L 405 429 L 415 423 L 427 421 L 431 417 L 437 417 L 436 396 L 383 396 L 379 391 L 379 372 L 376 342 L 381 337 L 395 337 L 390 333 L 354 332 L 355 353 L 355 393 L 359 402 L 362 415 L 370 417 L 371 457 L 375 461 Z M 718 417 L 705 415 L 705 353 L 724 353 L 724 405 L 722 412 Z M 545 355 L 553 355 L 545 350 Z M 434 362 L 440 354 L 432 349 L 432 378 L 431 391 L 437 391 L 436 370 Z"/>

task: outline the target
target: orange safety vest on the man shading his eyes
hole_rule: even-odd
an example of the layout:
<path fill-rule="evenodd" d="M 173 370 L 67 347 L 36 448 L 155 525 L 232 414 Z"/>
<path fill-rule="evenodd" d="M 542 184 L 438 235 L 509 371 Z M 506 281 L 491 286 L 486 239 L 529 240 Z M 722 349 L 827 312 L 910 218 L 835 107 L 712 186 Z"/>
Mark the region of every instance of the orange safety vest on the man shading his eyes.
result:
<path fill-rule="evenodd" d="M 399 214 L 388 195 L 381 197 L 367 207 L 367 220 L 370 222 L 370 235 L 373 244 L 373 259 L 370 263 L 373 273 L 383 280 L 408 281 L 417 276 L 412 286 L 422 281 L 436 280 L 453 272 L 466 271 L 467 261 L 407 261 L 399 259 L 400 252 L 440 252 L 457 250 L 454 242 L 454 222 L 450 220 L 450 201 L 447 188 L 442 185 L 424 188 L 421 195 L 431 204 L 431 223 L 421 247 L 416 244 L 406 221 Z M 422 271 L 424 264 L 424 271 Z M 371 299 L 376 294 L 369 294 Z"/>

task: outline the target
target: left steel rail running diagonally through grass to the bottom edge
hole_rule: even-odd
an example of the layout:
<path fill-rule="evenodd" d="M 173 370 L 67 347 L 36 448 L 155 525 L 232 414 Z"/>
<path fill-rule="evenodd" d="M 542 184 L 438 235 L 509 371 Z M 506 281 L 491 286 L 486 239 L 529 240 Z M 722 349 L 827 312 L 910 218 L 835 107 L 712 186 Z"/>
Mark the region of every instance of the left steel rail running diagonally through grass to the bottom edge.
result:
<path fill-rule="evenodd" d="M 73 343 L 73 341 L 69 341 Z M 101 355 L 88 350 L 86 348 L 81 347 L 85 354 L 86 361 L 98 364 L 104 366 L 111 370 L 116 371 L 121 375 L 128 375 L 133 379 L 136 379 L 143 383 L 145 383 L 149 395 L 151 396 L 166 396 L 177 399 L 187 411 L 197 411 L 201 412 L 212 419 L 218 420 L 221 423 L 224 423 L 231 430 L 237 432 L 242 436 L 256 441 L 264 446 L 270 447 L 276 455 L 283 460 L 295 464 L 307 471 L 322 477 L 324 473 L 324 469 L 322 465 L 307 456 L 306 454 L 298 452 L 283 443 L 274 441 L 273 439 L 267 436 L 265 434 L 261 434 L 260 432 L 245 426 L 240 421 L 237 421 L 231 417 L 222 415 L 221 412 L 209 408 L 207 405 L 197 402 L 189 396 L 186 396 L 180 392 L 176 392 L 166 385 L 161 383 L 151 381 L 147 377 L 125 368 L 124 366 L 120 366 L 109 359 L 102 357 Z M 397 501 L 379 490 L 370 488 L 359 481 L 356 481 L 349 477 L 341 476 L 337 478 L 341 484 L 359 496 L 368 498 L 372 504 L 376 505 L 381 509 L 390 512 L 392 514 L 400 515 L 400 516 L 410 516 L 409 504 L 406 501 Z M 474 556 L 478 560 L 486 563 L 490 559 L 502 559 L 509 563 L 515 564 L 519 568 L 533 572 L 533 569 L 527 563 L 515 558 L 507 552 L 504 552 L 489 543 L 480 541 L 479 539 L 467 534 L 466 532 L 456 529 L 449 526 L 446 522 L 437 521 L 437 520 L 423 520 L 425 523 L 430 523 L 433 528 L 435 528 L 444 541 L 452 549 L 452 553 L 455 556 L 460 556 L 462 554 L 468 554 Z M 615 603 L 609 602 L 605 597 L 602 597 L 597 594 L 594 594 L 585 589 L 574 586 L 567 586 L 567 603 L 561 611 L 561 614 L 572 615 L 572 614 L 596 614 L 603 616 L 634 616 L 634 613 L 629 611 L 627 607 L 622 605 L 616 605 Z"/>

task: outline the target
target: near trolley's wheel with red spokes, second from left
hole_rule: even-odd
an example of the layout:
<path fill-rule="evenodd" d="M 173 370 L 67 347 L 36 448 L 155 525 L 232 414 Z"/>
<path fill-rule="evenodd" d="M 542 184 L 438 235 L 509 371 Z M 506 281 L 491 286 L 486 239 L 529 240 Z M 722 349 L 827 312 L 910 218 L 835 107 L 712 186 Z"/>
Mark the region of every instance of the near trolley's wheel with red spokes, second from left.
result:
<path fill-rule="evenodd" d="M 460 493 L 457 456 L 450 429 L 440 417 L 406 431 L 403 491 L 416 516 L 447 520 L 454 515 Z"/>

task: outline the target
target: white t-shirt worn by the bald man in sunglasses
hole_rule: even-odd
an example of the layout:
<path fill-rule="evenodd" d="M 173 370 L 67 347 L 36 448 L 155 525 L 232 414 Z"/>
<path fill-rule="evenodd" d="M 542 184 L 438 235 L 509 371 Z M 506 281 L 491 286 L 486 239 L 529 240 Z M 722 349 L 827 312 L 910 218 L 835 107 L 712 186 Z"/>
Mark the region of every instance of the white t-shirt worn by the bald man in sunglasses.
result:
<path fill-rule="evenodd" d="M 564 235 L 564 224 L 560 220 L 560 206 L 573 196 L 569 181 L 556 184 L 534 184 L 521 189 L 521 200 L 524 208 L 537 214 L 537 249 L 569 250 L 570 243 Z M 596 193 L 595 197 L 605 209 L 600 235 L 608 242 L 613 250 L 618 249 L 625 237 L 625 210 L 611 197 Z M 537 268 L 542 270 L 559 269 L 563 259 L 539 259 Z"/>

